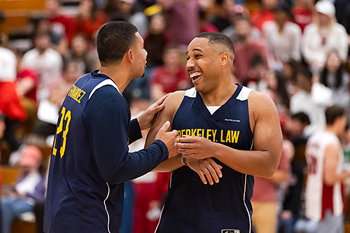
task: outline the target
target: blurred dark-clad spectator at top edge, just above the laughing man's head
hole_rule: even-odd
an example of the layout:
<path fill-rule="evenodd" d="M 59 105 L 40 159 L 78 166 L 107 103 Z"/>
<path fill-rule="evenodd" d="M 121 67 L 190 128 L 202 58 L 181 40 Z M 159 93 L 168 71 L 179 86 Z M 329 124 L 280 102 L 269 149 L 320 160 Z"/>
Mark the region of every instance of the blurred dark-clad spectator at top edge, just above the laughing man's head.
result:
<path fill-rule="evenodd" d="M 218 31 L 223 31 L 226 27 L 230 27 L 230 15 L 235 10 L 234 0 L 215 0 L 215 13 L 210 22 Z"/>

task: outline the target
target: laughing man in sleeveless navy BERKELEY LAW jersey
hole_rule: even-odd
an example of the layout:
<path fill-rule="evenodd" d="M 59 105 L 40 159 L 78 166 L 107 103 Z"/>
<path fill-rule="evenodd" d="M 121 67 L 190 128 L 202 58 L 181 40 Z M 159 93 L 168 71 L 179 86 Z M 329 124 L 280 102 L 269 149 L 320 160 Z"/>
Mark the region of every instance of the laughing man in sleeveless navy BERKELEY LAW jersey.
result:
<path fill-rule="evenodd" d="M 182 154 L 155 169 L 172 171 L 156 232 L 253 232 L 253 176 L 274 174 L 282 134 L 273 101 L 232 82 L 234 52 L 223 34 L 194 38 L 186 69 L 195 87 L 171 94 L 151 127 L 146 145 L 172 122 Z"/>

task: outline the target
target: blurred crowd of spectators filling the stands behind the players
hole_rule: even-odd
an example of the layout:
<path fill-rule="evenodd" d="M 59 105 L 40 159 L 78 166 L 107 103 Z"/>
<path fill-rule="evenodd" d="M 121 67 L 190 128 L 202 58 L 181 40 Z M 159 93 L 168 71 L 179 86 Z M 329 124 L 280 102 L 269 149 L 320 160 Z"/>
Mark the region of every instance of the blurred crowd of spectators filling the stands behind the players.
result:
<path fill-rule="evenodd" d="M 164 94 L 192 87 L 184 64 L 193 37 L 220 31 L 232 39 L 232 82 L 273 99 L 285 139 L 274 177 L 255 178 L 256 232 L 263 232 L 259 225 L 266 223 L 264 217 L 279 232 L 298 227 L 307 232 L 302 228 L 302 223 L 307 225 L 307 139 L 325 127 L 327 106 L 350 110 L 350 1 L 262 0 L 251 10 L 244 1 L 234 0 L 80 0 L 75 15 L 61 12 L 59 0 L 45 0 L 45 15 L 32 22 L 29 50 L 10 46 L 7 35 L 0 36 L 0 146 L 10 154 L 1 161 L 26 168 L 12 192 L 1 198 L 2 215 L 11 217 L 1 225 L 3 233 L 9 232 L 13 218 L 33 211 L 36 203 L 42 205 L 45 172 L 40 164 L 47 164 L 42 157 L 48 155 L 37 148 L 52 145 L 69 87 L 84 73 L 99 69 L 94 39 L 98 29 L 113 20 L 137 26 L 148 52 L 144 78 L 133 80 L 123 93 L 134 116 Z M 350 129 L 341 141 L 349 165 Z M 143 146 L 140 140 L 130 150 Z M 169 174 L 150 173 L 125 183 L 122 232 L 154 232 L 168 181 Z M 349 192 L 344 184 L 345 213 Z M 278 211 L 267 214 L 262 209 L 266 204 Z M 6 212 L 10 208 L 11 215 Z"/>

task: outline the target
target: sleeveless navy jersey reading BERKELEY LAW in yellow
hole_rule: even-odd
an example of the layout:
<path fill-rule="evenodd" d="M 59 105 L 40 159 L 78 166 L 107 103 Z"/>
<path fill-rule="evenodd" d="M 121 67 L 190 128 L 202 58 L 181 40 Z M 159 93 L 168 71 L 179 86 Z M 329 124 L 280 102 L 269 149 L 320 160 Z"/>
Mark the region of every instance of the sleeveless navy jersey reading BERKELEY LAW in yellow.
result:
<path fill-rule="evenodd" d="M 172 128 L 179 136 L 202 136 L 216 143 L 251 150 L 253 133 L 249 122 L 248 94 L 238 85 L 230 99 L 211 114 L 193 87 L 174 115 Z M 183 166 L 172 171 L 158 233 L 207 232 L 248 233 L 252 230 L 253 176 L 223 166 L 219 183 L 204 185 L 195 171 Z"/>

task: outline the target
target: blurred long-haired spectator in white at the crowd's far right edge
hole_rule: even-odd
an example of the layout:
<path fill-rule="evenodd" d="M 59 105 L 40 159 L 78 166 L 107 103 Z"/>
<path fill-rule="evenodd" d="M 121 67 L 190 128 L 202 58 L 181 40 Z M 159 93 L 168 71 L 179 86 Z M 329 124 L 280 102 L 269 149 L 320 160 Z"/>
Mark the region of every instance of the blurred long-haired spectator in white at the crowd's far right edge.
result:
<path fill-rule="evenodd" d="M 325 67 L 320 74 L 320 83 L 332 90 L 332 103 L 339 104 L 349 112 L 349 73 L 344 70 L 337 50 L 328 52 Z"/>

